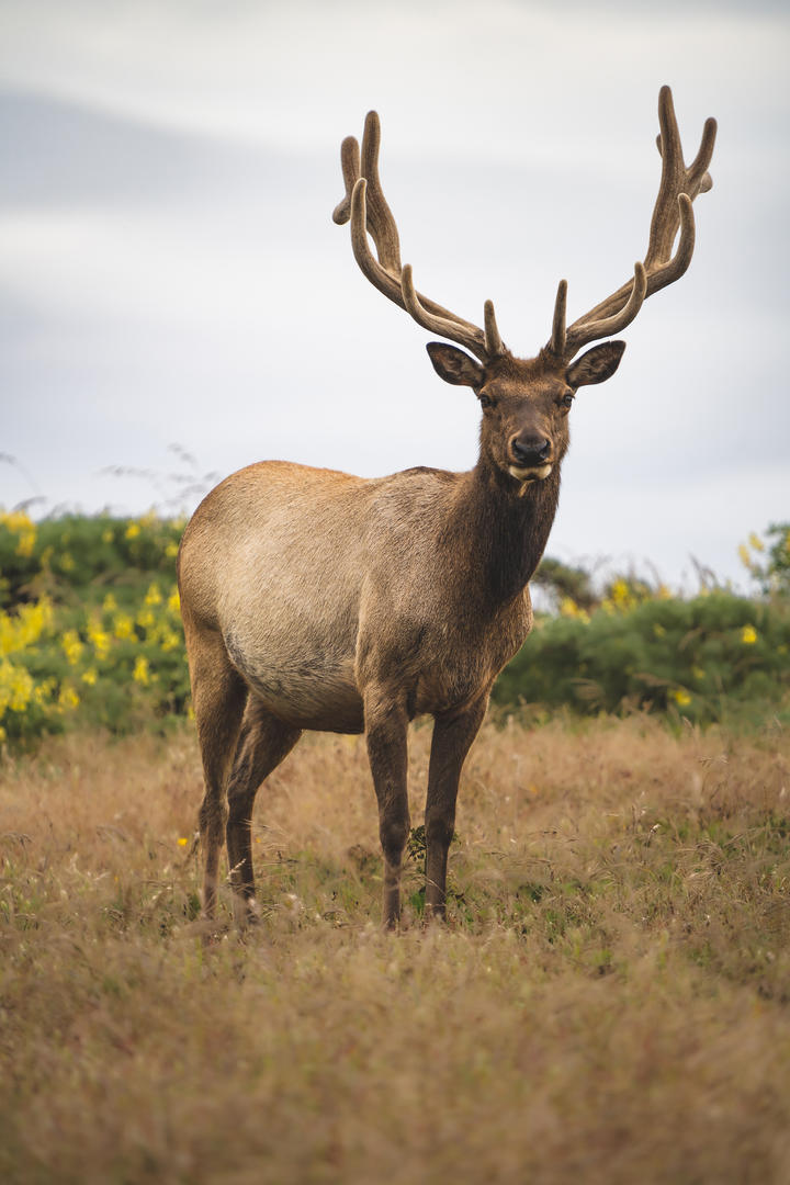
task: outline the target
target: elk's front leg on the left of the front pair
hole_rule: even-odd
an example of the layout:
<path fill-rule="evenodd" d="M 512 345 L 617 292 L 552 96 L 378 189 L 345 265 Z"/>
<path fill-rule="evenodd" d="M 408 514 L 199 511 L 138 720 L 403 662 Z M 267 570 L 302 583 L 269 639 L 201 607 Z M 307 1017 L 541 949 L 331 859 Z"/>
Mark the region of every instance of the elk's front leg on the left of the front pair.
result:
<path fill-rule="evenodd" d="M 384 852 L 384 928 L 400 918 L 400 869 L 409 838 L 405 704 L 380 691 L 365 694 L 365 738 L 379 803 L 379 837 Z"/>

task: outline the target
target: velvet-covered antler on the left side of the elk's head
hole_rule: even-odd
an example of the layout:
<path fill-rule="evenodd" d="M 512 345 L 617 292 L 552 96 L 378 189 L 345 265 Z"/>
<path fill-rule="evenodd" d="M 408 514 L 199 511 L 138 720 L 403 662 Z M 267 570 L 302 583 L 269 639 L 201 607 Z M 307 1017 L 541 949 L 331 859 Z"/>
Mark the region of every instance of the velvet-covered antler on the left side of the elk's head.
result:
<path fill-rule="evenodd" d="M 335 206 L 332 218 L 339 225 L 351 219 L 354 258 L 374 288 L 410 313 L 423 328 L 449 341 L 457 341 L 476 354 L 481 361 L 489 361 L 505 352 L 492 301 L 486 301 L 484 329 L 480 329 L 418 293 L 413 284 L 411 265 L 400 263 L 398 228 L 379 180 L 380 140 L 381 128 L 375 111 L 368 111 L 365 118 L 361 160 L 359 143 L 354 136 L 343 140 L 340 164 L 346 196 Z M 375 244 L 378 258 L 370 249 L 368 235 Z"/>

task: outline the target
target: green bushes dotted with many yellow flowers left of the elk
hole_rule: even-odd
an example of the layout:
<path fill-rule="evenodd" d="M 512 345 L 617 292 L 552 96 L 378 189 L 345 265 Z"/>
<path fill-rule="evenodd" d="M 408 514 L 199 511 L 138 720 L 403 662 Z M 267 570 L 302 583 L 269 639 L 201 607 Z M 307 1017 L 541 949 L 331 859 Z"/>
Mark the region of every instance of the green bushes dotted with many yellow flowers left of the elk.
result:
<path fill-rule="evenodd" d="M 126 732 L 186 710 L 181 530 L 154 514 L 0 514 L 0 742 L 77 723 Z"/>

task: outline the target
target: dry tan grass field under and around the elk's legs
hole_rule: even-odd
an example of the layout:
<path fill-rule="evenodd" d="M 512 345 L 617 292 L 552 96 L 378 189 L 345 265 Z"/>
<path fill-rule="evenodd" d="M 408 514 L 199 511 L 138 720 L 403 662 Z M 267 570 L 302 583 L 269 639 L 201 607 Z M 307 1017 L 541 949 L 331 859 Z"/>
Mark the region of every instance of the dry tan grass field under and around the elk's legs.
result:
<path fill-rule="evenodd" d="M 190 732 L 7 764 L 0 1176 L 789 1180 L 789 757 L 778 731 L 489 725 L 450 924 L 418 924 L 415 859 L 385 937 L 364 744 L 308 737 L 259 795 L 263 924 L 207 954 Z"/>

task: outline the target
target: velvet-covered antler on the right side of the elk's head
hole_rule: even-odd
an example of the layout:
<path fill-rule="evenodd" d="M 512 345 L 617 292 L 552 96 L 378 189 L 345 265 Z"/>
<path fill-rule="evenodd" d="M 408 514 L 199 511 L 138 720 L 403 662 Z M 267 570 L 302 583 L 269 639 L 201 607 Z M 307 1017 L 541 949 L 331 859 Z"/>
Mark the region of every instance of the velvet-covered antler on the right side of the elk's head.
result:
<path fill-rule="evenodd" d="M 552 335 L 546 348 L 558 358 L 572 358 L 582 346 L 599 338 L 609 338 L 630 325 L 648 296 L 680 280 L 694 251 L 694 212 L 692 201 L 698 193 L 706 193 L 713 181 L 707 168 L 713 155 L 717 122 L 705 121 L 699 152 L 687 167 L 677 130 L 677 120 L 669 87 L 659 92 L 659 124 L 656 142 L 661 153 L 661 182 L 650 222 L 650 238 L 644 263 L 634 265 L 634 278 L 627 281 L 611 296 L 591 308 L 570 328 L 565 328 L 567 281 L 560 280 L 554 303 Z M 680 241 L 674 256 L 672 248 L 680 229 Z"/>

